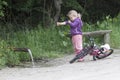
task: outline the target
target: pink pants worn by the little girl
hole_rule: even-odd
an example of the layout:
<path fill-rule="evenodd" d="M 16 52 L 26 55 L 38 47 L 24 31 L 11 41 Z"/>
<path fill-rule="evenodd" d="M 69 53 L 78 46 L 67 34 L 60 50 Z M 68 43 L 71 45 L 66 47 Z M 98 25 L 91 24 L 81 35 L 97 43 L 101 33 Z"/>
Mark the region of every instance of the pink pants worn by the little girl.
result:
<path fill-rule="evenodd" d="M 79 52 L 82 50 L 82 35 L 72 36 L 72 44 L 75 54 L 79 54 Z"/>

